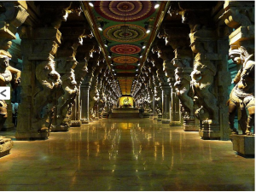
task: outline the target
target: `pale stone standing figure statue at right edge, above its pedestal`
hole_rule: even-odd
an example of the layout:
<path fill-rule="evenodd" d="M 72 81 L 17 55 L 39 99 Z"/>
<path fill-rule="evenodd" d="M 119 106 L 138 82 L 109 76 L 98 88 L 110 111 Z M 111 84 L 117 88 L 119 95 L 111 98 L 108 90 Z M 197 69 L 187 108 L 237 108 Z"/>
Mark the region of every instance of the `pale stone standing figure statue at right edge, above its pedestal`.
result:
<path fill-rule="evenodd" d="M 246 109 L 248 111 L 247 122 L 246 119 L 240 119 L 241 131 L 243 135 L 251 136 L 252 127 L 254 127 L 254 110 L 255 110 L 255 97 L 254 97 L 254 55 L 250 55 L 244 47 L 237 47 L 231 45 L 230 58 L 237 64 L 241 65 L 241 69 L 236 74 L 234 79 L 235 87 L 231 90 L 230 99 L 227 102 L 229 106 L 229 124 L 230 131 L 233 134 L 238 134 L 234 127 L 234 119 L 236 115 L 236 108 L 239 106 L 241 109 L 241 117 L 246 116 Z"/>

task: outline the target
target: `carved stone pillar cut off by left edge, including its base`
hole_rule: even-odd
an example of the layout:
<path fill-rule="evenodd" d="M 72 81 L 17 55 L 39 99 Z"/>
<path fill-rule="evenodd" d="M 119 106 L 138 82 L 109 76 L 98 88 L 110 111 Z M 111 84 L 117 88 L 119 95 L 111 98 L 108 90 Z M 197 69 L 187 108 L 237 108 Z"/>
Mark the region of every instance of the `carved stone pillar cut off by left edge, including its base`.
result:
<path fill-rule="evenodd" d="M 11 40 L 15 39 L 15 33 L 17 32 L 17 28 L 26 20 L 28 13 L 26 12 L 26 2 L 1 2 L 0 4 L 0 55 L 3 60 L 3 56 L 7 56 L 9 58 L 12 57 L 12 55 L 9 54 L 8 50 L 12 45 Z M 4 69 L 4 72 L 1 73 L 5 73 L 5 71 L 13 73 L 13 71 L 9 70 L 9 68 L 10 66 L 6 67 Z M 18 77 L 10 77 L 10 79 L 12 79 L 12 83 L 15 82 L 15 78 Z M 1 82 L 1 84 L 11 86 L 9 82 Z M 13 129 L 15 125 L 12 122 L 11 98 L 10 100 L 0 100 L 0 107 L 0 130 L 8 131 L 10 129 Z M 11 141 L 11 139 L 0 136 L 0 158 L 4 155 L 9 154 L 11 148 L 13 148 L 13 142 Z"/>

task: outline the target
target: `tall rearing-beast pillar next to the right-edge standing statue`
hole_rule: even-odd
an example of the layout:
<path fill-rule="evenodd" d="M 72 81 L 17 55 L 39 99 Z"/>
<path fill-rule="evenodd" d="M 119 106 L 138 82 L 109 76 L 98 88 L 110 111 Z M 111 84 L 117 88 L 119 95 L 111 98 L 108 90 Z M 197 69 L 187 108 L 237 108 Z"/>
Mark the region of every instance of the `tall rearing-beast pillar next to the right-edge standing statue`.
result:
<path fill-rule="evenodd" d="M 195 104 L 199 106 L 195 116 L 201 120 L 199 133 L 202 138 L 219 138 L 221 125 L 217 91 L 221 84 L 216 84 L 215 79 L 220 74 L 217 66 L 221 66 L 218 63 L 224 55 L 218 52 L 218 33 L 211 16 L 212 6 L 216 3 L 189 4 L 179 2 L 182 22 L 189 24 L 190 47 L 195 53 L 193 72 L 190 74 Z"/>

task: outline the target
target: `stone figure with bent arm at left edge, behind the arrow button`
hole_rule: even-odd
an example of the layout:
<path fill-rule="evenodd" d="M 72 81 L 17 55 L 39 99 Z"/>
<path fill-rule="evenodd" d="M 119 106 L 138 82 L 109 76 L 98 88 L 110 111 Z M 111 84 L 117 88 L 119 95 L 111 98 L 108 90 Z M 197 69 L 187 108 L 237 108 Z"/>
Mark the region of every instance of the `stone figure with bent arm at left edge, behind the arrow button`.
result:
<path fill-rule="evenodd" d="M 13 74 L 15 74 L 15 79 L 13 79 Z M 16 88 L 20 84 L 20 75 L 20 70 L 9 66 L 9 57 L 0 55 L 0 86 L 7 86 L 11 83 L 12 87 Z M 4 100 L 0 100 L 0 130 L 7 116 L 7 103 Z"/>

